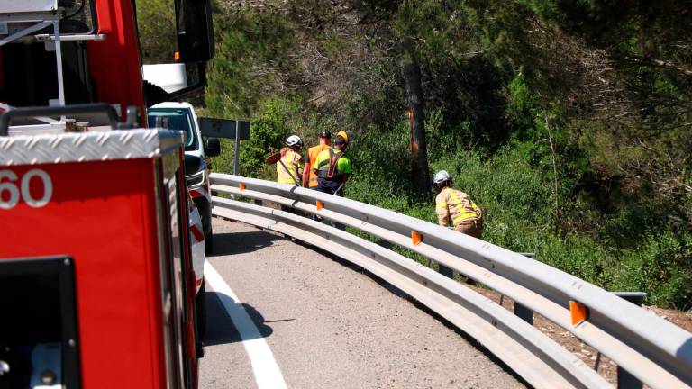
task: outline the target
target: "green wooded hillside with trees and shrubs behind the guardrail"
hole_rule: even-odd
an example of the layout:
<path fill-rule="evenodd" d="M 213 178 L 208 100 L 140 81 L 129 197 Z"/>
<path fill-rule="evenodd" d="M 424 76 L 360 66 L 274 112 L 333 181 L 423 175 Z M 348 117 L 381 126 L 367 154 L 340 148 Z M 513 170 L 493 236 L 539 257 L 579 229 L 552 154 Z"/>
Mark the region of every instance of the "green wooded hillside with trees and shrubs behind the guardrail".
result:
<path fill-rule="evenodd" d="M 215 8 L 205 113 L 251 119 L 242 175 L 273 179 L 263 159 L 289 134 L 348 131 L 348 197 L 436 222 L 444 168 L 485 210 L 484 240 L 691 307 L 692 2 Z M 224 146 L 217 171 L 232 170 Z"/>

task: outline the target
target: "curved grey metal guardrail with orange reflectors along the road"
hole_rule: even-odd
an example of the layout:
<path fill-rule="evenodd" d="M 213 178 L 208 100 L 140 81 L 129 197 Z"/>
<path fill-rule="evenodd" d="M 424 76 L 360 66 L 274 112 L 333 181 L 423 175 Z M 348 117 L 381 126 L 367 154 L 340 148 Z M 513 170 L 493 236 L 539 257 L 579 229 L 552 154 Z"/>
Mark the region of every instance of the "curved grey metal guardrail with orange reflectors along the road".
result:
<path fill-rule="evenodd" d="M 216 192 L 282 204 L 359 229 L 487 285 L 610 357 L 652 388 L 692 385 L 692 334 L 542 262 L 430 222 L 291 185 L 212 174 Z M 214 214 L 285 233 L 363 267 L 475 338 L 537 388 L 612 387 L 590 366 L 469 287 L 322 222 L 214 196 Z M 412 236 L 420 238 L 414 244 Z M 573 325 L 570 302 L 586 307 Z"/>

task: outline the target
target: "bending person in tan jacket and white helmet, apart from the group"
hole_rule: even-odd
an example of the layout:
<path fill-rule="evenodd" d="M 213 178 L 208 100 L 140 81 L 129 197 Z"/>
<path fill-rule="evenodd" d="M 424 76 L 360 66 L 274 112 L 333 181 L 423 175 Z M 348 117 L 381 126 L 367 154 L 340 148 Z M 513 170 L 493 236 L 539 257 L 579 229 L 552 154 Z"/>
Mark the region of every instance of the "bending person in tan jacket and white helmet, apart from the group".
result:
<path fill-rule="evenodd" d="M 432 178 L 432 185 L 437 190 L 435 213 L 440 225 L 453 226 L 474 238 L 480 238 L 483 231 L 483 213 L 469 195 L 451 187 L 451 176 L 446 170 L 440 170 Z"/>

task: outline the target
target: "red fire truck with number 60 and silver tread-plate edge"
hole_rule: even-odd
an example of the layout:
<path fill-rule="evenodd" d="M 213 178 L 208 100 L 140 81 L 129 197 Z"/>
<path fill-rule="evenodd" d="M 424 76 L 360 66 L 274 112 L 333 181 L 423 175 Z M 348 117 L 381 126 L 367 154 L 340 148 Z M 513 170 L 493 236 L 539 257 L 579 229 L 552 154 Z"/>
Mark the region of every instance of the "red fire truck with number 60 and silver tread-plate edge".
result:
<path fill-rule="evenodd" d="M 201 84 L 209 0 L 171 7 Z M 172 97 L 134 0 L 0 2 L 0 389 L 196 387 L 183 135 L 144 128 Z"/>

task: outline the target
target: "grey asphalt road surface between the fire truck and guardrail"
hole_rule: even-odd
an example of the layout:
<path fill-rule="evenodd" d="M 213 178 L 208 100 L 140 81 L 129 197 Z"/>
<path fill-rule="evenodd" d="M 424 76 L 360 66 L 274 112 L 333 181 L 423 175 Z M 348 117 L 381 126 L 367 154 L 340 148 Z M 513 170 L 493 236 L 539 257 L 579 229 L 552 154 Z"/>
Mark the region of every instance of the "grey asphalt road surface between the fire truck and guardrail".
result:
<path fill-rule="evenodd" d="M 524 387 L 358 267 L 240 222 L 214 235 L 201 388 Z"/>

